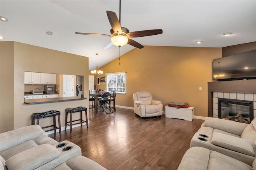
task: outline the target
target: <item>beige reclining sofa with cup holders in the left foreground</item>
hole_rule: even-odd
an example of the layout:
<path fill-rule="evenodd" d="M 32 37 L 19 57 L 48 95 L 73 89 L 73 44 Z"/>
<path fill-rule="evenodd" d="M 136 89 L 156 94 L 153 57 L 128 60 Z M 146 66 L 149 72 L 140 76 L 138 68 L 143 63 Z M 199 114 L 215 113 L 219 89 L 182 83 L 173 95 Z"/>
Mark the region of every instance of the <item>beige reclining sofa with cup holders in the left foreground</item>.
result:
<path fill-rule="evenodd" d="M 86 169 L 89 164 L 96 169 L 105 169 L 81 156 L 81 148 L 76 144 L 68 140 L 57 142 L 48 137 L 39 125 L 1 133 L 0 155 L 0 170 Z"/>

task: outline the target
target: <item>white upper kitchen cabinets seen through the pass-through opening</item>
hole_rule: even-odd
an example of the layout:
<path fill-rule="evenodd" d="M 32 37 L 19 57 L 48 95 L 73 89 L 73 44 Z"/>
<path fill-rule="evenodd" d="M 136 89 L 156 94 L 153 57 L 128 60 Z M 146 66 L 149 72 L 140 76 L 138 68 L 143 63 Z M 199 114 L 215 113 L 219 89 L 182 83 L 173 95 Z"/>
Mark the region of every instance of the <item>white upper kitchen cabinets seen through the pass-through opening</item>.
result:
<path fill-rule="evenodd" d="M 56 84 L 56 74 L 24 72 L 24 84 Z"/>

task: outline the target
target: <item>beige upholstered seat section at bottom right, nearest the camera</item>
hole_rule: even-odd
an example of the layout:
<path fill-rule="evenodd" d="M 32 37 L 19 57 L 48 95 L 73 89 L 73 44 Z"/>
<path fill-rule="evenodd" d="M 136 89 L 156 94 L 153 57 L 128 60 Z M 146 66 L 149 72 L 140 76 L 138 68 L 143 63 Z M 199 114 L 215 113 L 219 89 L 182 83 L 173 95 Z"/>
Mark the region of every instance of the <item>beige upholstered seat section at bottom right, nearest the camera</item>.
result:
<path fill-rule="evenodd" d="M 184 154 L 178 170 L 255 170 L 256 160 L 248 165 L 216 151 L 192 147 Z"/>

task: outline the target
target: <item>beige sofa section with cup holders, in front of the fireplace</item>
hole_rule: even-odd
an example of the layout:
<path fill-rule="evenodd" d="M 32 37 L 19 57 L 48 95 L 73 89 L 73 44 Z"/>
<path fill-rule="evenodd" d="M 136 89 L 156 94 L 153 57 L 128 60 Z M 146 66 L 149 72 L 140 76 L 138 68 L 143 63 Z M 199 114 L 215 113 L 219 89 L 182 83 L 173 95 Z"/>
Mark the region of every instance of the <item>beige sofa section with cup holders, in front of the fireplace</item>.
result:
<path fill-rule="evenodd" d="M 252 166 L 256 159 L 255 129 L 256 119 L 248 125 L 209 117 L 194 134 L 190 147 L 208 148 Z"/>

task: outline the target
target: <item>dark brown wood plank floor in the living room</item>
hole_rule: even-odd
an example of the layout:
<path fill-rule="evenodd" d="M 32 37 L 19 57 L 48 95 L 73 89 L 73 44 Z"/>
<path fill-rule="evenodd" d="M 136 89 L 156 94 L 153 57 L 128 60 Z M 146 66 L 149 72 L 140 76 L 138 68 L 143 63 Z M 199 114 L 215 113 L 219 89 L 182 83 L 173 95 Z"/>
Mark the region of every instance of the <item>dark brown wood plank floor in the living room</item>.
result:
<path fill-rule="evenodd" d="M 133 110 L 117 108 L 112 114 L 90 111 L 90 124 L 48 135 L 61 142 L 69 140 L 82 155 L 108 170 L 176 170 L 190 140 L 203 120 L 140 119 Z M 63 126 L 63 125 L 62 125 Z"/>

